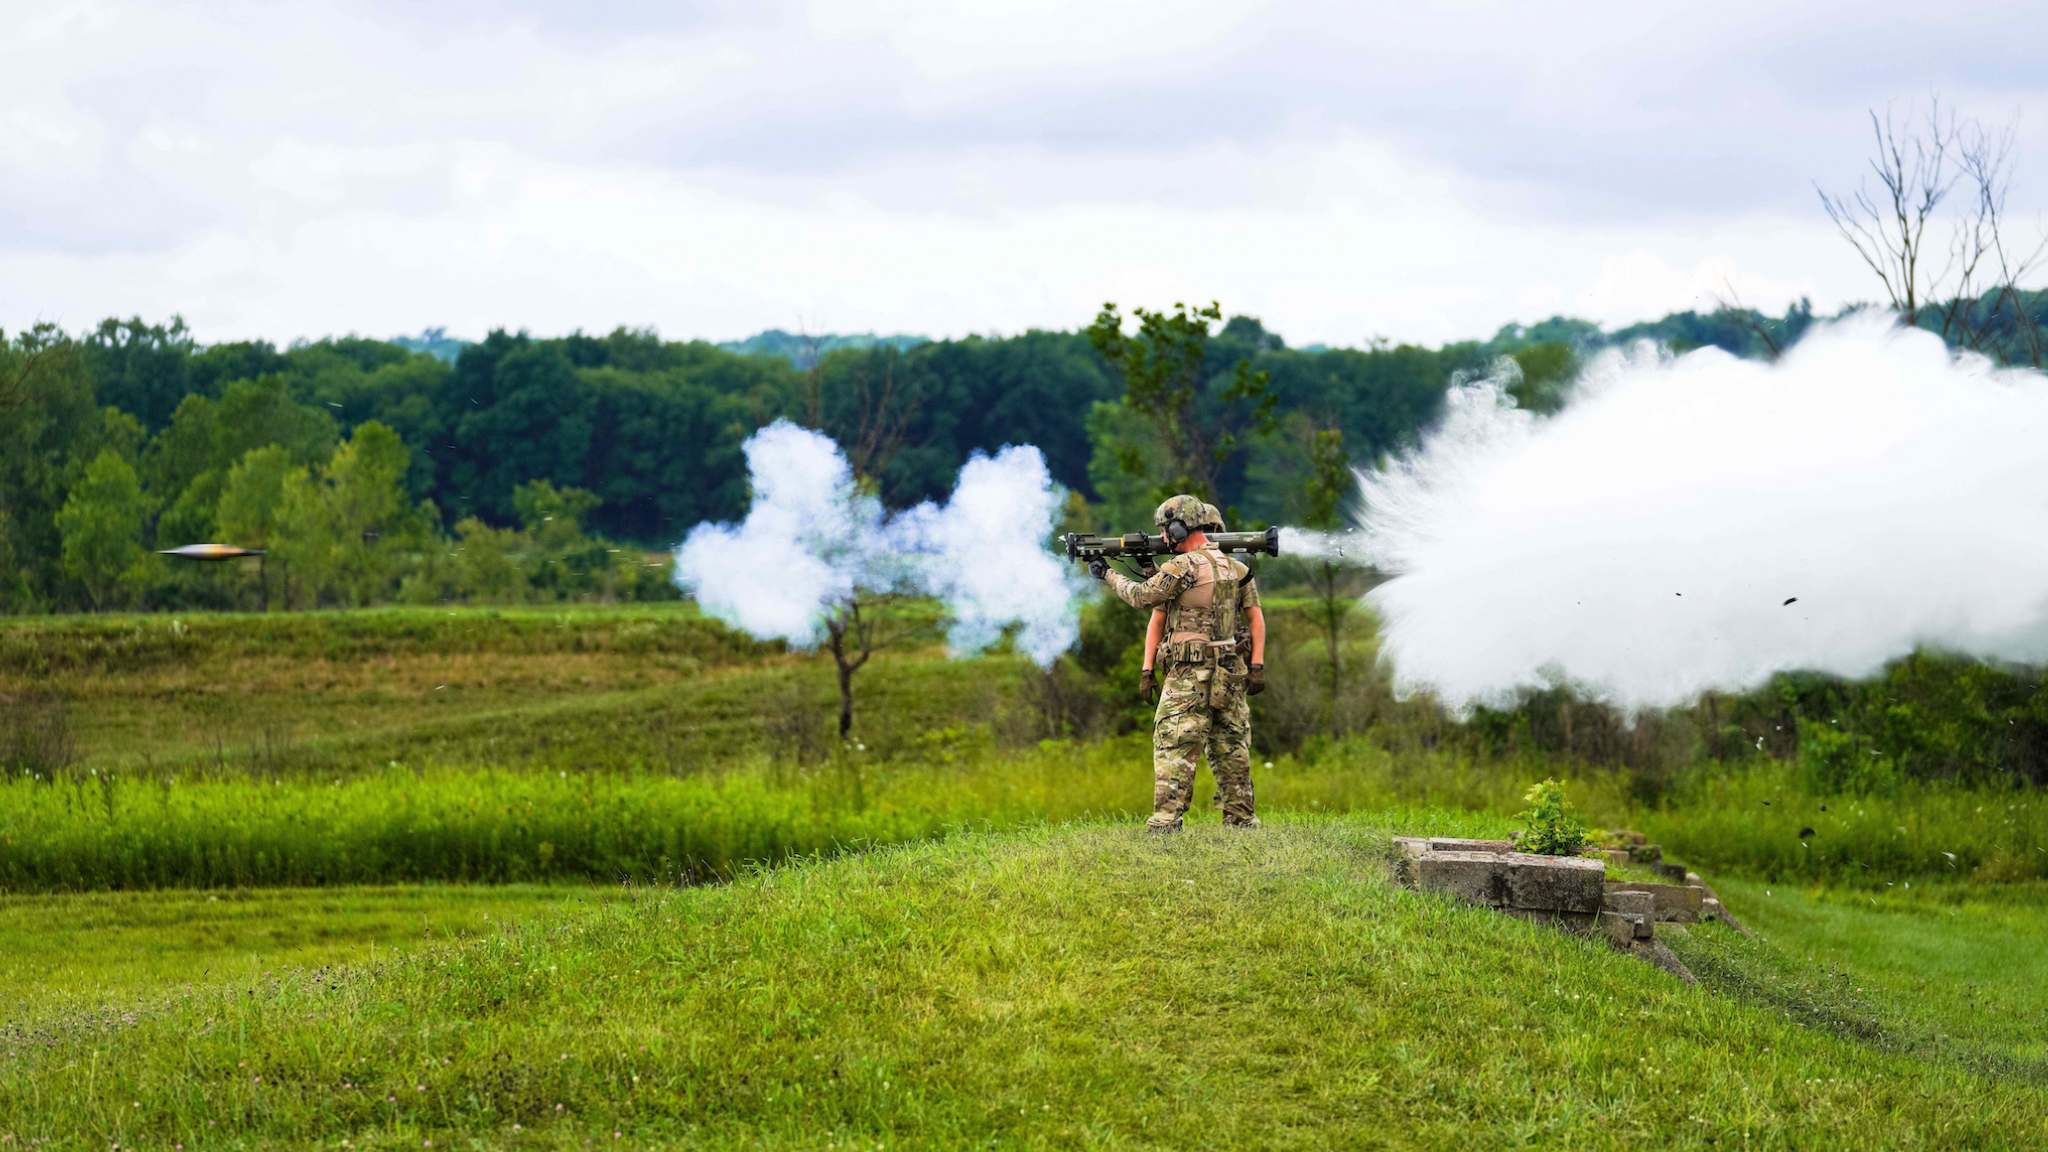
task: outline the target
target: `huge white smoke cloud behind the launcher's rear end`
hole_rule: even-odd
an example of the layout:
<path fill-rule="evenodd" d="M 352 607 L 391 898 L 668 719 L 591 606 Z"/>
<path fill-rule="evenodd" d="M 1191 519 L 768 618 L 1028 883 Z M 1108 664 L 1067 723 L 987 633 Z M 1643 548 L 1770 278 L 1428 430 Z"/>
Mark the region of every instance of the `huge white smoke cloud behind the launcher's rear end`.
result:
<path fill-rule="evenodd" d="M 1370 601 L 1403 689 L 1452 705 L 1559 674 L 1671 705 L 1915 646 L 2048 658 L 2048 379 L 1862 316 L 1774 365 L 1595 359 L 1569 408 L 1456 387 L 1360 474 Z"/>

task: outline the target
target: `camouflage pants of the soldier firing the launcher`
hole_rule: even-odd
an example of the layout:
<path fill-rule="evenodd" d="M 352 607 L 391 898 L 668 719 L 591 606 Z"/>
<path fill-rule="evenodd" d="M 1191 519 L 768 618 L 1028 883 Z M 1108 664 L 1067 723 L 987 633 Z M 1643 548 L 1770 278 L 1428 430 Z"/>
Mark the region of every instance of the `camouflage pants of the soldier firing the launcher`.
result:
<path fill-rule="evenodd" d="M 1217 668 L 1182 664 L 1159 687 L 1153 713 L 1153 814 L 1147 828 L 1180 828 L 1194 799 L 1194 763 L 1208 752 L 1225 824 L 1251 824 L 1251 701 L 1243 681 L 1210 707 Z"/>

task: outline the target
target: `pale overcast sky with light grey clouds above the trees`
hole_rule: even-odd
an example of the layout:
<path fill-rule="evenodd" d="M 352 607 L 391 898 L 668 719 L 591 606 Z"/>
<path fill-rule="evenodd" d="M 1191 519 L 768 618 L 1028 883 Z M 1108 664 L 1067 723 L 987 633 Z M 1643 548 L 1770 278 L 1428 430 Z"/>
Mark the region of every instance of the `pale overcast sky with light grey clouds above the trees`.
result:
<path fill-rule="evenodd" d="M 2048 4 L 0 0 L 0 326 L 1294 344 L 1874 281 L 1868 107 L 2021 117 Z"/>

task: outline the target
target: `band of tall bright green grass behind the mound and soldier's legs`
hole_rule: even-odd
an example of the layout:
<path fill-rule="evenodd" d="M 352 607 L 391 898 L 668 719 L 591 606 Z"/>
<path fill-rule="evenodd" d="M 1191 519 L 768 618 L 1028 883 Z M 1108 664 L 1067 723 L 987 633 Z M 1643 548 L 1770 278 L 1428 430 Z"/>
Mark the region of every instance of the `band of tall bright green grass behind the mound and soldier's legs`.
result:
<path fill-rule="evenodd" d="M 1456 797 L 1468 765 L 1423 783 L 1393 758 L 1260 767 L 1264 812 Z M 334 886 L 535 879 L 674 881 L 872 845 L 1151 810 L 1143 738 L 1004 750 L 989 730 L 928 732 L 897 758 L 772 756 L 698 775 L 391 765 L 338 779 L 0 783 L 0 890 Z M 1198 822 L 1214 816 L 1198 806 Z M 1427 818 L 1423 818 L 1427 822 Z M 1505 836 L 1501 816 L 1468 818 Z M 1423 828 L 1427 832 L 1427 828 Z"/>

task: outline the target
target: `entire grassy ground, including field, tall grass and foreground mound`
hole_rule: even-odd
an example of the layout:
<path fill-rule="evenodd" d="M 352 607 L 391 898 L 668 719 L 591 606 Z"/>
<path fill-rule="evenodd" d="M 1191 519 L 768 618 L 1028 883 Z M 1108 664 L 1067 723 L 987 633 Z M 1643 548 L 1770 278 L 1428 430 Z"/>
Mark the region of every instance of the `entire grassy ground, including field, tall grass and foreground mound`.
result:
<path fill-rule="evenodd" d="M 0 781 L 0 1152 L 2048 1142 L 2034 793 L 1642 808 L 1438 722 L 1157 840 L 1143 732 L 905 623 L 842 744 L 682 605 L 0 621 L 0 754 L 70 760 Z M 1757 937 L 1686 988 L 1389 886 L 1552 775 Z"/>

